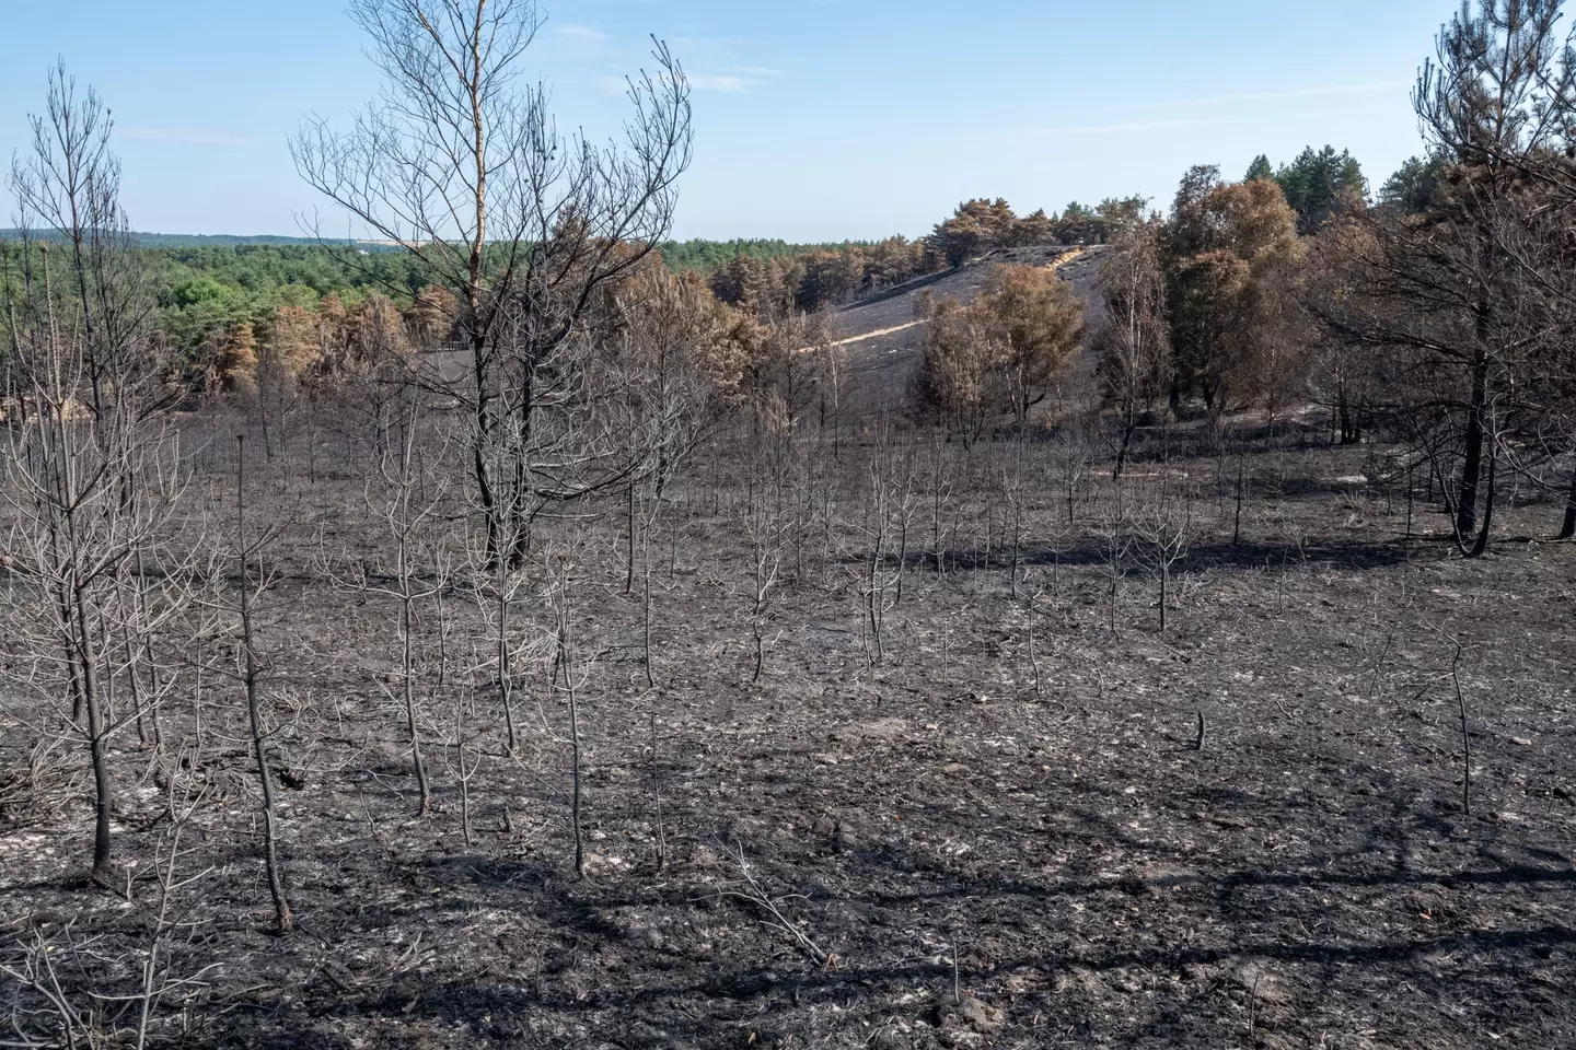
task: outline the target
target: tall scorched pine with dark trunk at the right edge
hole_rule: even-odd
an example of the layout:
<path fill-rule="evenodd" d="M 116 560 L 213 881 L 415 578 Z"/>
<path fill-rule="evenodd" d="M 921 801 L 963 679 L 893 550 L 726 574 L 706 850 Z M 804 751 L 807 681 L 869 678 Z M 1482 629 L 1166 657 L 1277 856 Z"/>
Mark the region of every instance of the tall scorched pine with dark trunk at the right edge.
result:
<path fill-rule="evenodd" d="M 1439 35 L 1412 101 L 1440 184 L 1422 213 L 1377 208 L 1346 238 L 1360 294 L 1322 320 L 1368 357 L 1377 408 L 1445 488 L 1458 545 L 1481 554 L 1496 475 L 1548 422 L 1570 331 L 1562 190 L 1576 72 L 1556 36 L 1557 0 L 1480 0 Z"/>

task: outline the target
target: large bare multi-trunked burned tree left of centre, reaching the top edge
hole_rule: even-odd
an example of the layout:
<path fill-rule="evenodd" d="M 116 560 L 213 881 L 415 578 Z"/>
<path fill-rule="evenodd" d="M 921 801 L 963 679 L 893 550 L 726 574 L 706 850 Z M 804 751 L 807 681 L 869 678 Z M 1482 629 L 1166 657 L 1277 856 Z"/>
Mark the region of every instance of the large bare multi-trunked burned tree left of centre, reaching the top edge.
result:
<path fill-rule="evenodd" d="M 563 428 L 545 446 L 539 433 L 547 414 L 585 411 L 588 332 L 670 228 L 689 83 L 657 44 L 656 71 L 629 82 L 624 142 L 596 145 L 561 135 L 545 87 L 523 83 L 542 25 L 533 0 L 355 0 L 350 13 L 385 101 L 345 132 L 309 121 L 296 167 L 455 294 L 465 376 L 429 381 L 466 408 L 489 556 L 519 567 L 536 505 L 624 482 L 596 469 L 600 450 L 566 447 Z"/>

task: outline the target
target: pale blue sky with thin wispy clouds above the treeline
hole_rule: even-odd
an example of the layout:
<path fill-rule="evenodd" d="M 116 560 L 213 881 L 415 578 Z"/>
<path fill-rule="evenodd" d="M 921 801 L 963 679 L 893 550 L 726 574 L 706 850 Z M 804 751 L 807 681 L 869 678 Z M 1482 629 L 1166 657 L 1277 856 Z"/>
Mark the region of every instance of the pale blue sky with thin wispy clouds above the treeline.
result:
<path fill-rule="evenodd" d="M 298 233 L 323 208 L 287 139 L 377 91 L 336 0 L 0 0 L 0 151 L 55 55 L 109 101 L 140 230 Z M 925 233 L 966 197 L 1020 211 L 1144 194 L 1258 153 L 1418 151 L 1407 90 L 1456 0 L 544 0 L 528 55 L 561 126 L 616 132 L 649 35 L 692 76 L 681 238 Z M 24 58 L 19 58 L 24 57 Z M 9 205 L 6 203 L 6 208 Z M 344 219 L 323 211 L 333 231 Z M 3 222 L 0 222 L 3 225 Z"/>

